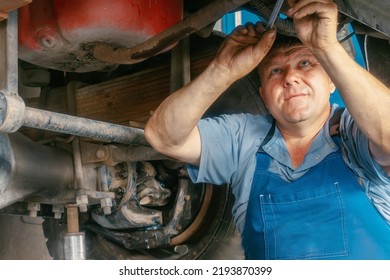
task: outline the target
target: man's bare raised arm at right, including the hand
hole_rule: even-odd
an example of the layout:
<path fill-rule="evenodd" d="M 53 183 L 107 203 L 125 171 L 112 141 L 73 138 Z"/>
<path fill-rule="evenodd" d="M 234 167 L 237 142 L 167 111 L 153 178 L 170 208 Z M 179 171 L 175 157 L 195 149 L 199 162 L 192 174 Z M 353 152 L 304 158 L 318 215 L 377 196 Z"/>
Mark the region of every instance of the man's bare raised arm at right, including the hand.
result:
<path fill-rule="evenodd" d="M 336 85 L 373 158 L 390 174 L 390 90 L 338 43 L 337 6 L 330 0 L 289 0 L 298 37 Z"/>

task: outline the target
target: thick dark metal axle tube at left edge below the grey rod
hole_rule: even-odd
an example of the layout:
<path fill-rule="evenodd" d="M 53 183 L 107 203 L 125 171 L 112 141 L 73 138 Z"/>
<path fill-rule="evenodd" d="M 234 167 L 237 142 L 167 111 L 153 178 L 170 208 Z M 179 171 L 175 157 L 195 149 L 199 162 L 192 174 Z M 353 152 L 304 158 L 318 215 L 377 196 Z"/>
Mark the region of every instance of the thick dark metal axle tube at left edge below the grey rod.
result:
<path fill-rule="evenodd" d="M 73 185 L 71 154 L 0 133 L 0 209 L 33 194 L 53 197 Z"/>

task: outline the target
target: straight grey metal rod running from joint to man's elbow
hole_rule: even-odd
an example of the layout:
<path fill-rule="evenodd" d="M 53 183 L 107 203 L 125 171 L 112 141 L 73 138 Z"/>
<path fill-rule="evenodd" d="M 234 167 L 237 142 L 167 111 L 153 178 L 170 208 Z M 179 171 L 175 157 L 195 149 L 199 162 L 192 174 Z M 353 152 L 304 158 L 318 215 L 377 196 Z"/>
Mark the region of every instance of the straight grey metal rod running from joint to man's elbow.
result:
<path fill-rule="evenodd" d="M 149 146 L 142 129 L 26 107 L 24 126 L 121 144 Z"/>

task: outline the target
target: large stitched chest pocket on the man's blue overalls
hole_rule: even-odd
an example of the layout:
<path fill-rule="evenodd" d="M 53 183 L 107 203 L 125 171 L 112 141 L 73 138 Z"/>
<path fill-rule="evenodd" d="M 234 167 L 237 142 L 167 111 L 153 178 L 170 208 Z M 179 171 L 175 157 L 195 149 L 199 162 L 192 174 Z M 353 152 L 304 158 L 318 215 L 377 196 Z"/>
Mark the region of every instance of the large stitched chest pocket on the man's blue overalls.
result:
<path fill-rule="evenodd" d="M 338 183 L 294 194 L 260 194 L 267 259 L 348 255 L 345 211 Z"/>

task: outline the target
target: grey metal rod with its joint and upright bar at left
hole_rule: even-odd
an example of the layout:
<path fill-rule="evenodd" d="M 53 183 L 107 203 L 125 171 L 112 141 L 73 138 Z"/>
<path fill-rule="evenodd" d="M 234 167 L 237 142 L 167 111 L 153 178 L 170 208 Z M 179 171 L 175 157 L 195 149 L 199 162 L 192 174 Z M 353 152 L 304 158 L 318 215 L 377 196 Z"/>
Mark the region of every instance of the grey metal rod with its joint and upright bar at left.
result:
<path fill-rule="evenodd" d="M 18 95 L 18 17 L 0 22 L 0 132 L 21 126 L 97 140 L 149 146 L 142 129 L 26 107 Z"/>

